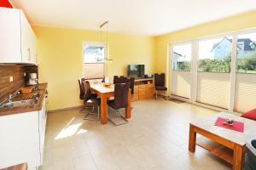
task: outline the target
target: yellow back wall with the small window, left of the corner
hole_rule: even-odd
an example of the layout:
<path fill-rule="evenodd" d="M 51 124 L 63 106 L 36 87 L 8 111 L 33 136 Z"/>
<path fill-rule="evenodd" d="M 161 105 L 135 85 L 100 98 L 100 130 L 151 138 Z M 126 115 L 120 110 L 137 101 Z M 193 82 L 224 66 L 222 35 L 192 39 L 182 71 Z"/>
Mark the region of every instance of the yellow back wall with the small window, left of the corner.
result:
<path fill-rule="evenodd" d="M 82 42 L 99 42 L 100 32 L 33 26 L 38 37 L 39 82 L 49 83 L 49 110 L 81 105 L 78 79 L 82 76 Z M 107 41 L 102 35 L 102 41 Z M 154 73 L 154 37 L 109 33 L 109 77 L 126 75 L 129 64 L 144 64 Z"/>

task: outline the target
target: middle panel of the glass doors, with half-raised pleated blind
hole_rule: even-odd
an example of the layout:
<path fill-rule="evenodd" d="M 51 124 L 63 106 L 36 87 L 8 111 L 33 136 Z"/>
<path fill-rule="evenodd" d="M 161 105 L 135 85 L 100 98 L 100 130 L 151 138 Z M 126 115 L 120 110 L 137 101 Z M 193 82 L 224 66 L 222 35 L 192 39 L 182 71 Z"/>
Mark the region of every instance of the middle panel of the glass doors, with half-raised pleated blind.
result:
<path fill-rule="evenodd" d="M 229 108 L 232 37 L 198 42 L 196 101 Z"/>

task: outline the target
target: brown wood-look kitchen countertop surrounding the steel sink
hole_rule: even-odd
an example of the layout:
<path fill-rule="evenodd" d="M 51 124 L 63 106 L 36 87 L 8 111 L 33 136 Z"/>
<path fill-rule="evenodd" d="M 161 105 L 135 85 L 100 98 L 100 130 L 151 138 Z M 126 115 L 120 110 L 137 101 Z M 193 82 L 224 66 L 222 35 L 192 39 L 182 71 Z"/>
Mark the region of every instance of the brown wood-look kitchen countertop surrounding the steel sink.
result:
<path fill-rule="evenodd" d="M 11 107 L 11 108 L 1 108 L 0 109 L 0 116 L 8 116 L 14 114 L 20 114 L 29 111 L 40 111 L 43 106 L 44 96 L 46 94 L 47 83 L 39 83 L 38 89 L 33 89 L 32 94 L 40 94 L 40 98 L 38 99 L 38 103 L 35 105 L 22 105 L 18 107 Z M 24 95 L 24 94 L 23 94 Z M 29 94 L 27 94 L 29 95 Z"/>

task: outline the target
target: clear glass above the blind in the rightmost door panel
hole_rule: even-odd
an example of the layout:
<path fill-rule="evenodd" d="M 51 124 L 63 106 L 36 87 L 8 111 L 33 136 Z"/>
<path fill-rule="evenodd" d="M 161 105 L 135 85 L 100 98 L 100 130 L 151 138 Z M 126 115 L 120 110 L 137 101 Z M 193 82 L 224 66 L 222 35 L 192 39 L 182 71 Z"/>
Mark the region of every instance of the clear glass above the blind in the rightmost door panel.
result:
<path fill-rule="evenodd" d="M 237 68 L 239 73 L 256 73 L 256 33 L 244 34 L 237 39 Z"/>

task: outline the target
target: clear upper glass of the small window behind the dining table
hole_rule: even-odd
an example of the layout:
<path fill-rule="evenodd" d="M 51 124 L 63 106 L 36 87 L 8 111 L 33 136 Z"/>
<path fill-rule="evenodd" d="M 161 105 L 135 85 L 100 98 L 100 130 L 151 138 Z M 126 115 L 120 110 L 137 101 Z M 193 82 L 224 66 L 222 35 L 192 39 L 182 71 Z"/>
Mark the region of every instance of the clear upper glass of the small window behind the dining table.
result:
<path fill-rule="evenodd" d="M 84 63 L 102 62 L 105 58 L 105 48 L 101 45 L 85 45 Z"/>

